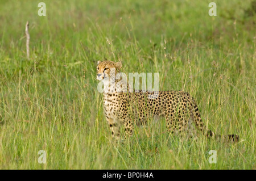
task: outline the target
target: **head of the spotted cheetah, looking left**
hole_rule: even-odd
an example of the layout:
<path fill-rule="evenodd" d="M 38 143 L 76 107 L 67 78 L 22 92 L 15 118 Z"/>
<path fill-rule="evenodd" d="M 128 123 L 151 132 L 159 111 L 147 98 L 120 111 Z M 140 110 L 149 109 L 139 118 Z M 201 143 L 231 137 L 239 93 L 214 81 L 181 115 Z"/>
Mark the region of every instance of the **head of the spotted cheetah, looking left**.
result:
<path fill-rule="evenodd" d="M 115 75 L 122 68 L 121 62 L 113 62 L 113 61 L 98 61 L 97 62 L 97 79 L 99 81 L 104 80 L 107 77 L 110 77 L 110 71 L 115 70 Z"/>

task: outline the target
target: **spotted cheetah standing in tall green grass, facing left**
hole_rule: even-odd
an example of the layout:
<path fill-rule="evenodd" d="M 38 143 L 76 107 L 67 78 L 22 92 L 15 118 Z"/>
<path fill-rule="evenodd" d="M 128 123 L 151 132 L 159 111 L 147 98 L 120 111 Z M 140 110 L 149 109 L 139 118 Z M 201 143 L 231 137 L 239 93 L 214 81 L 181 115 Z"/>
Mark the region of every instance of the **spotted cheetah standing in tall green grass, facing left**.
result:
<path fill-rule="evenodd" d="M 221 137 L 204 125 L 199 109 L 188 92 L 184 91 L 130 91 L 124 79 L 117 78 L 122 68 L 121 62 L 98 61 L 97 79 L 104 85 L 104 113 L 111 129 L 112 137 L 119 140 L 120 128 L 125 127 L 125 138 L 133 134 L 134 125 L 145 125 L 150 117 L 164 117 L 166 127 L 171 132 L 187 130 L 189 120 L 207 137 Z M 114 74 L 110 72 L 114 70 Z M 127 86 L 124 86 L 124 83 Z M 228 134 L 229 140 L 236 142 L 236 134 Z"/>

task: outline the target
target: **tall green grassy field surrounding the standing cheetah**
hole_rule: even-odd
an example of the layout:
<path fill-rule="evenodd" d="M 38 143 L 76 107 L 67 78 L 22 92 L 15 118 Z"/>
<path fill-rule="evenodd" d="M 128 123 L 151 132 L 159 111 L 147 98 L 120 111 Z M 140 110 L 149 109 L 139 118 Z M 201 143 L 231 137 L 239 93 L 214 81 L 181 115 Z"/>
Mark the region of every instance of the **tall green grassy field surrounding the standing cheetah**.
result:
<path fill-rule="evenodd" d="M 217 16 L 211 1 L 43 1 L 46 16 L 39 2 L 0 1 L 0 169 L 256 168 L 255 1 L 214 1 Z M 97 60 L 158 72 L 160 90 L 189 92 L 210 129 L 240 142 L 170 135 L 162 120 L 114 144 Z"/>

